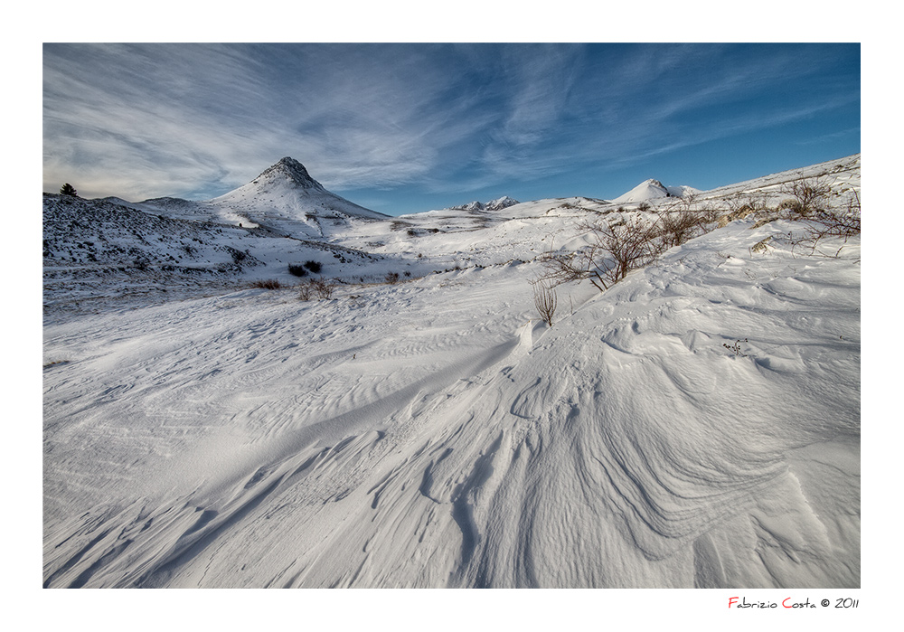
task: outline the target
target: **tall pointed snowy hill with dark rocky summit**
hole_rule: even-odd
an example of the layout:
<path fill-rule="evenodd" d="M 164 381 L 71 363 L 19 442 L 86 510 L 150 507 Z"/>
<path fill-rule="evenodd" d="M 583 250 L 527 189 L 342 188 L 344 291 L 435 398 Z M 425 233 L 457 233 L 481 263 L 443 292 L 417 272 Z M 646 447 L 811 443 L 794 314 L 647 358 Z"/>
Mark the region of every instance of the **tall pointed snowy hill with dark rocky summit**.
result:
<path fill-rule="evenodd" d="M 305 165 L 290 157 L 268 167 L 249 184 L 204 204 L 279 231 L 307 236 L 323 236 L 329 227 L 355 220 L 388 217 L 330 193 L 307 173 Z"/>

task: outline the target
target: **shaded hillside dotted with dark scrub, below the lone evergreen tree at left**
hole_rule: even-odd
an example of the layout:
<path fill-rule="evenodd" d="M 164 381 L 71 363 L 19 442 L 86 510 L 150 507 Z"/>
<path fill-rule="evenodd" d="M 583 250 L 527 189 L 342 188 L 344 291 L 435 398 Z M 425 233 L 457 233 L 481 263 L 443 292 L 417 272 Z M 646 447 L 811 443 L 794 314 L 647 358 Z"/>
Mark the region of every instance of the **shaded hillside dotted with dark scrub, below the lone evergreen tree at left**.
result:
<path fill-rule="evenodd" d="M 292 284 L 299 279 L 289 265 L 309 261 L 329 277 L 383 278 L 402 269 L 395 258 L 319 239 L 156 214 L 112 199 L 44 194 L 45 322 L 222 293 L 261 279 Z"/>

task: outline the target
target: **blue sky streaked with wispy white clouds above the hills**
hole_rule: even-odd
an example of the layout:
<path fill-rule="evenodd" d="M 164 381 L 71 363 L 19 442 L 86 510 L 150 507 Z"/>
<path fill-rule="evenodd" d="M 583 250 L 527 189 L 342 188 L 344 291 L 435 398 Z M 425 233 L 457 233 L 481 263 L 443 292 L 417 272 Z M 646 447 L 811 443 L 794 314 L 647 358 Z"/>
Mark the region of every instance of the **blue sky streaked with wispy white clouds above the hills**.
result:
<path fill-rule="evenodd" d="M 710 189 L 861 150 L 826 44 L 44 44 L 43 188 L 207 199 L 282 156 L 389 214 Z"/>

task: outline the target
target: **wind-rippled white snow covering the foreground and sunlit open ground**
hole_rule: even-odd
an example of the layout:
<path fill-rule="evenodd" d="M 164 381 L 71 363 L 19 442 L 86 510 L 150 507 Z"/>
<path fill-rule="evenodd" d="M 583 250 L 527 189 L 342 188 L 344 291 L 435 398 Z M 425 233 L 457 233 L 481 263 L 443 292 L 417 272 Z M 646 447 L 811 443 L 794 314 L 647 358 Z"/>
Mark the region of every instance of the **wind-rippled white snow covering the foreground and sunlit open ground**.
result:
<path fill-rule="evenodd" d="M 816 174 L 850 192 L 859 164 L 701 195 Z M 224 285 L 52 310 L 44 585 L 858 587 L 859 237 L 793 256 L 793 224 L 749 216 L 605 293 L 561 286 L 549 328 L 533 259 L 599 212 L 624 213 L 572 198 L 354 224 L 329 245 L 372 259 L 345 280 L 414 274 L 328 300 Z M 173 243 L 202 234 L 147 217 Z M 235 235 L 197 230 L 223 231 L 211 259 Z M 292 242 L 254 239 L 267 265 L 233 277 Z"/>

